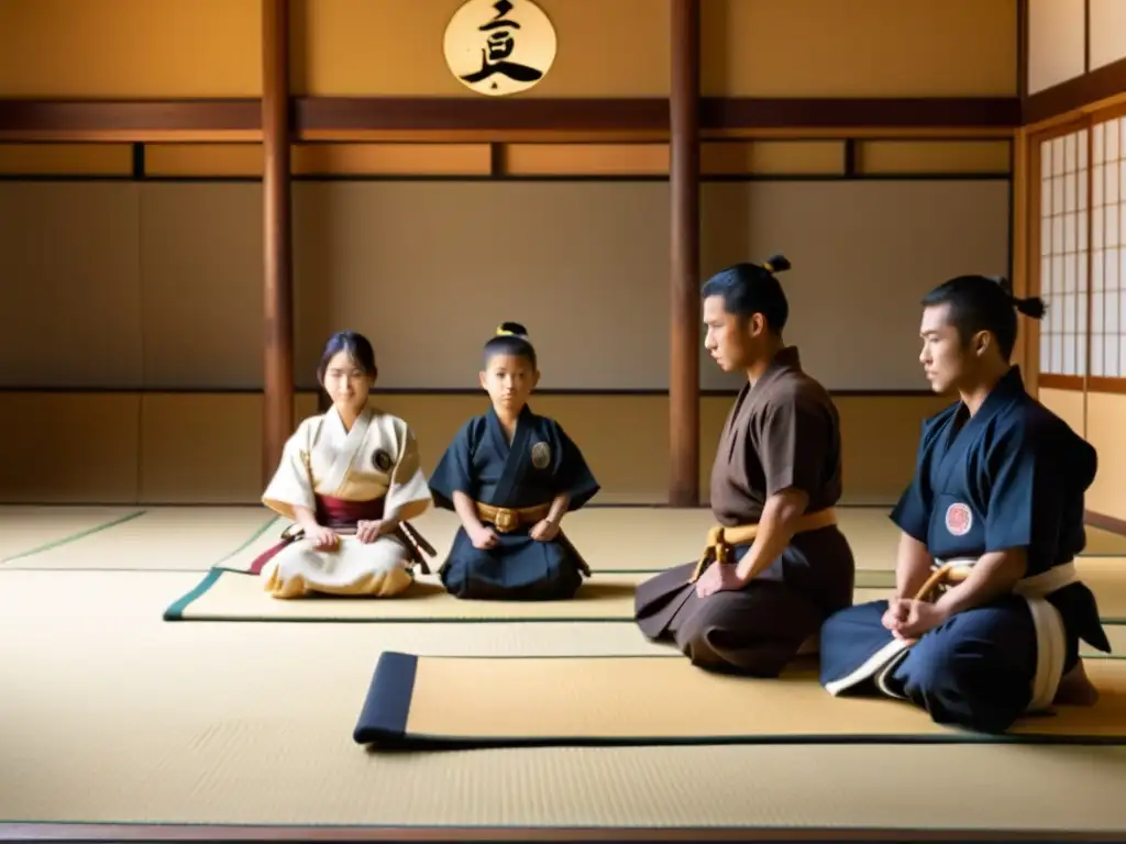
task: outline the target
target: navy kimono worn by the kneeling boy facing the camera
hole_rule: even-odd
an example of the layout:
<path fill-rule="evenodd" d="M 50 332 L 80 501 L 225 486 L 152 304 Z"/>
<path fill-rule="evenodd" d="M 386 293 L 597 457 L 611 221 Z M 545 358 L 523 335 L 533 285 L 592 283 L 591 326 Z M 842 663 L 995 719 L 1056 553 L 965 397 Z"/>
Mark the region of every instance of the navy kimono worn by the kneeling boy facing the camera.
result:
<path fill-rule="evenodd" d="M 454 492 L 482 504 L 511 510 L 549 505 L 569 495 L 568 512 L 598 492 L 579 447 L 554 420 L 525 405 L 511 447 L 495 411 L 474 416 L 457 432 L 430 478 L 435 505 L 454 509 Z M 587 564 L 562 530 L 549 541 L 533 539 L 531 524 L 511 532 L 495 528 L 499 541 L 473 547 L 458 528 L 440 571 L 446 590 L 457 598 L 558 601 L 573 598 Z"/>

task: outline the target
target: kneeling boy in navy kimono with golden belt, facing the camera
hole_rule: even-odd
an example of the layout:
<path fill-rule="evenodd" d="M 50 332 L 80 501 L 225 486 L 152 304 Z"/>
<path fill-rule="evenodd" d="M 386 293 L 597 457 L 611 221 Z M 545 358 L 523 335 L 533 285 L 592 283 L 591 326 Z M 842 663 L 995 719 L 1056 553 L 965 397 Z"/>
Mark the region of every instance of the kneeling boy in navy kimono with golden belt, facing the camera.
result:
<path fill-rule="evenodd" d="M 539 372 L 524 326 L 502 324 L 484 354 L 492 408 L 462 427 L 430 478 L 435 504 L 462 520 L 441 582 L 464 599 L 573 598 L 590 569 L 560 521 L 598 483 L 563 429 L 528 407 Z"/>

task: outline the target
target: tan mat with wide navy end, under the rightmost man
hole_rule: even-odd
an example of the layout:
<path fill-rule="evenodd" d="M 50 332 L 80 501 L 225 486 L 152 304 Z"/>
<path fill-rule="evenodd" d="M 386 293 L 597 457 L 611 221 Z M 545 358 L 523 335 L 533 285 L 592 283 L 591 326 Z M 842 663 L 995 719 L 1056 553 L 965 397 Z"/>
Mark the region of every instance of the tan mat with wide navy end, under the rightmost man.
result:
<path fill-rule="evenodd" d="M 395 748 L 1018 742 L 1126 744 L 1126 662 L 1089 661 L 1101 698 L 1006 736 L 935 724 L 911 703 L 833 698 L 808 668 L 776 680 L 662 657 L 381 655 L 352 738 Z"/>

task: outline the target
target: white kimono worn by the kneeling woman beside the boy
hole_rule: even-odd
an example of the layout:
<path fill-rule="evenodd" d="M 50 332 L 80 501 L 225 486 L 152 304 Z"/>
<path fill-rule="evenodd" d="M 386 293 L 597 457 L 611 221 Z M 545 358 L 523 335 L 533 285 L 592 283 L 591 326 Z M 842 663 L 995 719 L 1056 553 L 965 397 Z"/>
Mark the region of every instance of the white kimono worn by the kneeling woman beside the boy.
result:
<path fill-rule="evenodd" d="M 334 407 L 304 420 L 286 441 L 262 503 L 296 520 L 294 508 L 316 512 L 319 495 L 355 502 L 383 499 L 385 522 L 401 523 L 426 512 L 430 490 L 408 424 L 373 407 L 364 408 L 350 431 Z M 305 538 L 282 549 L 267 564 L 269 572 L 263 571 L 267 591 L 275 598 L 309 592 L 386 598 L 411 585 L 410 551 L 400 536 L 382 533 L 363 544 L 336 532 L 340 544 L 329 550 L 318 550 Z"/>

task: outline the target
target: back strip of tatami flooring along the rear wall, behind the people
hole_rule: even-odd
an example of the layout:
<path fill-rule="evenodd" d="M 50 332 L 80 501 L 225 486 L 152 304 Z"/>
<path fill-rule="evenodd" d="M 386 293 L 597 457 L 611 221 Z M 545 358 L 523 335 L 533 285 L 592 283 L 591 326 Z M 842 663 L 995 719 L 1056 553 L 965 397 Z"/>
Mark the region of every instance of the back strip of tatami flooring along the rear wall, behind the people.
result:
<path fill-rule="evenodd" d="M 288 526 L 265 508 L 168 506 L 143 511 L 90 508 L 0 508 L 0 549 L 6 565 L 29 568 L 122 568 L 197 571 L 214 565 L 247 571 L 276 544 Z M 141 514 L 120 523 L 114 520 Z M 841 530 L 849 538 L 857 568 L 895 568 L 899 535 L 886 508 L 841 508 Z M 457 515 L 430 510 L 412 522 L 444 559 L 457 531 Z M 655 572 L 699 557 L 712 526 L 707 509 L 647 506 L 588 508 L 570 514 L 564 530 L 599 571 Z M 99 528 L 88 532 L 92 528 Z M 1088 528 L 1091 553 L 1107 556 L 1126 537 Z M 7 551 L 8 548 L 12 550 Z M 1126 571 L 1126 563 L 1123 564 Z M 867 584 L 865 584 L 867 585 Z"/>

